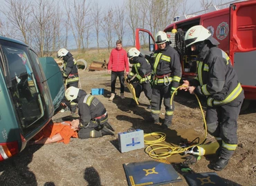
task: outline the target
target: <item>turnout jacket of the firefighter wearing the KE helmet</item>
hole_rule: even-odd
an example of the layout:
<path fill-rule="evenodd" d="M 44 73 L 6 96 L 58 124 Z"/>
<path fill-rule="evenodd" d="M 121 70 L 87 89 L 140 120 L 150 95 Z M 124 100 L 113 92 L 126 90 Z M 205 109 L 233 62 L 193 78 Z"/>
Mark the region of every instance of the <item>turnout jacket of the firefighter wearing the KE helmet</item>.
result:
<path fill-rule="evenodd" d="M 197 76 L 190 85 L 196 87 L 195 94 L 208 97 L 208 106 L 224 105 L 239 96 L 242 87 L 226 52 L 205 45 L 197 60 Z"/>

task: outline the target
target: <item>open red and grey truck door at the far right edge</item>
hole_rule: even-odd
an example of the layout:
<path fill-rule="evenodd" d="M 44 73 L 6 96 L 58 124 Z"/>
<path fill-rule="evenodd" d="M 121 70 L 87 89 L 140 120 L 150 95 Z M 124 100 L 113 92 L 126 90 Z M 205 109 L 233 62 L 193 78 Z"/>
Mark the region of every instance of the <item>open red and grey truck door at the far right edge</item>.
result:
<path fill-rule="evenodd" d="M 230 58 L 246 99 L 256 99 L 256 1 L 230 5 Z"/>

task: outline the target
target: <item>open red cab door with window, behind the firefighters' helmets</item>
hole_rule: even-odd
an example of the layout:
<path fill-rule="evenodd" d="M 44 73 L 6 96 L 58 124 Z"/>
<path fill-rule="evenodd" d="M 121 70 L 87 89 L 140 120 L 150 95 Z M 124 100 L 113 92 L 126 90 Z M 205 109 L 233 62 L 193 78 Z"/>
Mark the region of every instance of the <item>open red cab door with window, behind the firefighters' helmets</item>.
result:
<path fill-rule="evenodd" d="M 137 28 L 135 37 L 135 46 L 143 55 L 151 54 L 157 49 L 154 37 L 149 30 Z"/>

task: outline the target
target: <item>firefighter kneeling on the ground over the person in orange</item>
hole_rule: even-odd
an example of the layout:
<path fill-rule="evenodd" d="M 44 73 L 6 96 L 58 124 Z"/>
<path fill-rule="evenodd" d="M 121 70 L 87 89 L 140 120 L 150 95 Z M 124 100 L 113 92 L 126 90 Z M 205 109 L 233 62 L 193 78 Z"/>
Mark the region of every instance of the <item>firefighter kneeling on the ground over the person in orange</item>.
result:
<path fill-rule="evenodd" d="M 80 116 L 78 137 L 98 138 L 114 135 L 113 127 L 108 123 L 108 114 L 104 105 L 91 94 L 77 87 L 68 87 L 65 92 L 67 101 L 77 103 Z"/>

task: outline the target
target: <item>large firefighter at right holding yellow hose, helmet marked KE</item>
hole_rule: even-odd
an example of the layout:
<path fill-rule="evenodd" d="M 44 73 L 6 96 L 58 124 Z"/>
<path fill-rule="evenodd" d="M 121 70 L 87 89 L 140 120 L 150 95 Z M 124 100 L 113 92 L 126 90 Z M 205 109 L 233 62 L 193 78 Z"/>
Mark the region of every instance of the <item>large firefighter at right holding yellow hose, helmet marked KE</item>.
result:
<path fill-rule="evenodd" d="M 202 25 L 190 28 L 185 34 L 185 45 L 197 55 L 197 76 L 183 81 L 181 90 L 207 98 L 206 123 L 208 133 L 220 144 L 219 160 L 213 169 L 220 171 L 228 164 L 237 148 L 237 118 L 244 100 L 244 90 L 233 70 L 230 58 L 219 42 Z"/>

